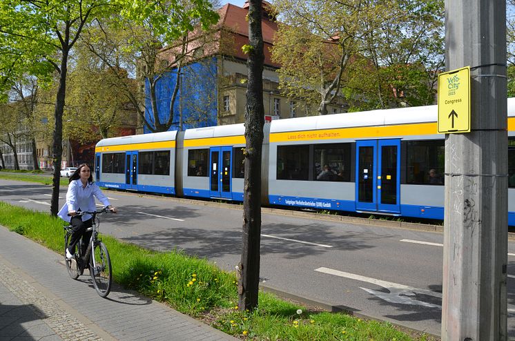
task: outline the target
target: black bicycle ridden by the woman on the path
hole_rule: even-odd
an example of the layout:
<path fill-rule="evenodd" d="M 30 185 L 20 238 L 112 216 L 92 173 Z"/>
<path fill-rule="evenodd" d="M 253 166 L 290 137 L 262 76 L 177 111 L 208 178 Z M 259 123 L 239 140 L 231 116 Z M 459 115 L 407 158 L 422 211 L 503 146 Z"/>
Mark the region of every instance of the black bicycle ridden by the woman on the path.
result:
<path fill-rule="evenodd" d="M 86 231 L 93 231 L 93 233 L 91 233 L 90 242 L 86 251 L 83 251 L 84 242 L 82 238 L 79 240 L 75 246 L 75 255 L 72 259 L 68 259 L 66 257 L 66 249 L 68 249 L 68 242 L 70 240 L 70 236 L 72 235 L 73 226 L 64 226 L 64 260 L 66 262 L 66 269 L 68 269 L 68 274 L 72 280 L 77 280 L 77 278 L 84 273 L 84 269 L 87 267 L 90 271 L 91 280 L 93 280 L 93 286 L 95 286 L 95 290 L 102 298 L 107 297 L 113 282 L 113 273 L 111 272 L 112 268 L 109 253 L 107 251 L 106 245 L 99 237 L 100 220 L 97 217 L 97 214 L 106 212 L 110 212 L 110 210 L 106 207 L 102 208 L 100 211 L 77 212 L 75 216 L 81 216 L 85 214 L 92 215 L 93 224 Z M 91 252 L 92 249 L 93 252 Z"/>

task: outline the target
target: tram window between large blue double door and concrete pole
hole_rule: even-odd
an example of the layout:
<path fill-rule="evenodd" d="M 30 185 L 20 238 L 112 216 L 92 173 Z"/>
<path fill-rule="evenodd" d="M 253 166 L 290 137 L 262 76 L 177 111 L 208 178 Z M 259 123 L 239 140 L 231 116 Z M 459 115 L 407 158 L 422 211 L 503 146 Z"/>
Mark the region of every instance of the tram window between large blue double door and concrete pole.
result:
<path fill-rule="evenodd" d="M 443 140 L 409 141 L 406 143 L 407 184 L 443 185 L 444 143 Z"/>

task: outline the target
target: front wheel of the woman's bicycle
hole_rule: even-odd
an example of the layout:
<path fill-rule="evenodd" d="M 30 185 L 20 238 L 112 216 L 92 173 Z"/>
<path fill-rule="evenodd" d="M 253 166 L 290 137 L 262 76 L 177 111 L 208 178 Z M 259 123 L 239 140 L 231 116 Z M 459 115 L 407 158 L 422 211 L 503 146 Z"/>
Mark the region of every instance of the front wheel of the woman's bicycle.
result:
<path fill-rule="evenodd" d="M 100 297 L 105 298 L 111 290 L 113 273 L 111 273 L 111 260 L 106 245 L 103 242 L 95 243 L 91 253 L 90 275 L 95 290 Z"/>

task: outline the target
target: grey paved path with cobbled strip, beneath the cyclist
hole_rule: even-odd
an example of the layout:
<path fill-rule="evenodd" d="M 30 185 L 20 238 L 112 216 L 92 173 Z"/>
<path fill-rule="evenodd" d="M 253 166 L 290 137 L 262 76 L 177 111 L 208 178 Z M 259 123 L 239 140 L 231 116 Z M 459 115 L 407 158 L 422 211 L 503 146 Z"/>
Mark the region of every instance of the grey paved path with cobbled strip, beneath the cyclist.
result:
<path fill-rule="evenodd" d="M 0 341 L 237 340 L 117 284 L 100 298 L 85 273 L 0 226 Z"/>

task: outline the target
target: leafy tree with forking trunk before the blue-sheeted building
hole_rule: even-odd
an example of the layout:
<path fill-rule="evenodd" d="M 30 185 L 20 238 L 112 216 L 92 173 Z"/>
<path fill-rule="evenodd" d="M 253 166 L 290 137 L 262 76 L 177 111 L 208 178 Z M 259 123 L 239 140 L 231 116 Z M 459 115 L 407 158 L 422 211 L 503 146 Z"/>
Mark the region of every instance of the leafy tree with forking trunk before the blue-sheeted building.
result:
<path fill-rule="evenodd" d="M 186 74 L 183 68 L 202 57 L 198 51 L 208 50 L 206 45 L 214 40 L 209 29 L 218 19 L 209 0 L 137 1 L 135 6 L 124 8 L 121 16 L 100 22 L 86 41 L 104 64 L 125 68 L 140 84 L 146 84 L 146 92 L 141 88 L 122 90 L 147 130 L 166 131 L 175 117 L 175 103 Z M 170 72 L 177 77 L 166 90 L 171 104 L 162 113 L 158 101 L 163 99 L 156 89 L 168 81 Z"/>

